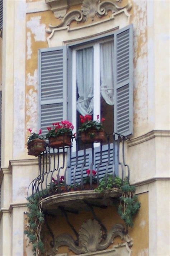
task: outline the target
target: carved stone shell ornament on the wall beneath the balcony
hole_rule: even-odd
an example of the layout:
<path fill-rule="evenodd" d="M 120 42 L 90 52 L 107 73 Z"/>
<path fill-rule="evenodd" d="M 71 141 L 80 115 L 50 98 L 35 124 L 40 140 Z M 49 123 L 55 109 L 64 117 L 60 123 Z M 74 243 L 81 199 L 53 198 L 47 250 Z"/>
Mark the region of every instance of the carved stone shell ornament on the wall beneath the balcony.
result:
<path fill-rule="evenodd" d="M 69 250 L 76 254 L 105 250 L 117 236 L 121 237 L 129 247 L 132 246 L 132 239 L 124 233 L 124 227 L 121 224 L 113 225 L 105 239 L 103 239 L 102 235 L 102 227 L 98 221 L 88 219 L 80 227 L 79 244 L 76 245 L 76 241 L 69 234 L 62 234 L 55 239 L 53 255 L 57 255 L 58 247 L 60 246 L 68 246 Z"/>

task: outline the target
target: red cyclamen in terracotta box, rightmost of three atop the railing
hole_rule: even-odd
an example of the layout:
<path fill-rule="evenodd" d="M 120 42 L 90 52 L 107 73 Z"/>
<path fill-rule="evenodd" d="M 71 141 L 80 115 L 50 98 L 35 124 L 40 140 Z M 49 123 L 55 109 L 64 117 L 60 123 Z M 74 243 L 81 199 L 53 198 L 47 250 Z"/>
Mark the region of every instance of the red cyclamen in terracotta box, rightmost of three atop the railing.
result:
<path fill-rule="evenodd" d="M 91 142 L 105 142 L 106 134 L 103 128 L 104 118 L 99 121 L 99 115 L 97 115 L 97 120 L 92 120 L 91 115 L 80 115 L 80 121 L 82 123 L 78 132 L 81 134 L 81 141 L 84 143 Z"/>

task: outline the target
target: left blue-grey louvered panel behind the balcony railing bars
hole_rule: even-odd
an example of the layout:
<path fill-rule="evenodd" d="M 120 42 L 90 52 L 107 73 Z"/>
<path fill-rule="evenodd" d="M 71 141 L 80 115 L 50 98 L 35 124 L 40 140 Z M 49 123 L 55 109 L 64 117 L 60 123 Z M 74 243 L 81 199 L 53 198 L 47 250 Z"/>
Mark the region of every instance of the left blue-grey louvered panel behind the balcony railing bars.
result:
<path fill-rule="evenodd" d="M 82 165 L 84 165 L 84 159 L 85 159 L 85 166 L 83 167 L 83 177 L 86 177 L 86 170 L 90 168 L 91 164 L 91 152 L 86 150 L 86 154 L 84 157 L 84 151 L 80 150 L 78 152 L 78 159 L 77 159 L 77 166 L 76 166 L 76 152 L 72 153 L 71 156 L 71 184 L 74 183 L 74 170 L 76 170 L 75 173 L 75 182 L 80 183 L 81 182 L 81 168 Z M 76 169 L 75 169 L 76 166 Z"/>

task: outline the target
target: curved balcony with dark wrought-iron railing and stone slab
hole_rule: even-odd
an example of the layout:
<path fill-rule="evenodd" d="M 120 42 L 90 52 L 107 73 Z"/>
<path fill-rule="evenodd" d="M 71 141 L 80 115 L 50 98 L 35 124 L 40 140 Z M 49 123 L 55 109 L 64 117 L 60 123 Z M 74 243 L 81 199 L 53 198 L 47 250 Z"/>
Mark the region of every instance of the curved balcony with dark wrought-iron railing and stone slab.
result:
<path fill-rule="evenodd" d="M 105 195 L 94 188 L 100 179 L 107 180 L 111 175 L 113 181 L 115 177 L 121 178 L 122 182 L 125 177 L 129 180 L 129 166 L 124 157 L 126 140 L 120 134 L 109 134 L 107 143 L 90 143 L 88 148 L 84 144 L 82 150 L 75 152 L 73 149 L 79 147 L 79 138 L 72 138 L 74 147 L 56 149 L 47 143 L 46 150 L 38 156 L 39 175 L 30 183 L 28 196 L 38 193 L 43 198 L 44 211 L 79 211 L 87 209 L 89 204 L 100 207 L 112 205 L 115 198 L 121 196 L 119 188 L 112 188 Z M 88 188 L 84 184 L 87 169 Z M 96 172 L 95 184 L 93 170 Z"/>

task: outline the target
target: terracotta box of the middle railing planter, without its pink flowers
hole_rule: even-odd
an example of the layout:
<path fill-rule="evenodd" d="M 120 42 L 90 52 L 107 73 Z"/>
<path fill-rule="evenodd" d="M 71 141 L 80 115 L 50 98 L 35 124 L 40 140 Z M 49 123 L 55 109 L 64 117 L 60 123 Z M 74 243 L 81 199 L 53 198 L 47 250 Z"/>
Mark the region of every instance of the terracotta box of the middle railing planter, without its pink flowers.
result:
<path fill-rule="evenodd" d="M 49 137 L 49 146 L 53 148 L 71 146 L 72 136 L 69 134 L 63 134 L 57 137 Z"/>

